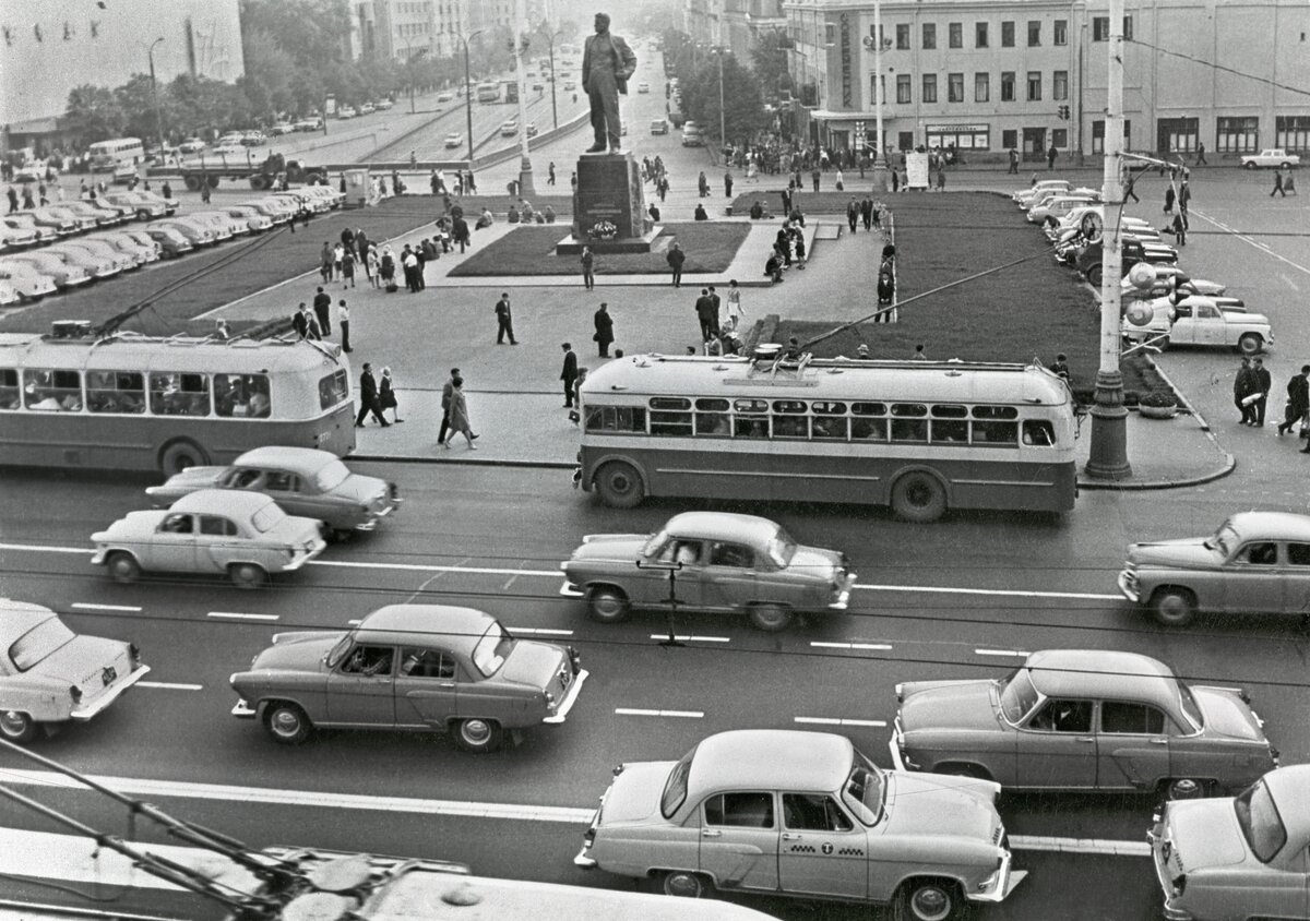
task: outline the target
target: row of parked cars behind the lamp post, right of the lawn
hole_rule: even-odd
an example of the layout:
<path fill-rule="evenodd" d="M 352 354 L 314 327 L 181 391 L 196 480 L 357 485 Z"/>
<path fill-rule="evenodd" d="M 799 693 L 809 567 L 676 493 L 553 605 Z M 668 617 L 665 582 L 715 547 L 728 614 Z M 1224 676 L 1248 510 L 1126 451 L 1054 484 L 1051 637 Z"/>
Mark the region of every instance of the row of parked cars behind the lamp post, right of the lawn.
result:
<path fill-rule="evenodd" d="M 1013 198 L 1028 221 L 1043 228 L 1056 261 L 1099 288 L 1106 225 L 1100 193 L 1073 187 L 1066 179 L 1043 179 Z M 1150 221 L 1129 215 L 1119 220 L 1125 345 L 1159 351 L 1175 345 L 1225 347 L 1246 355 L 1272 347 L 1268 317 L 1229 296 L 1224 284 L 1184 273 L 1178 249 Z"/>

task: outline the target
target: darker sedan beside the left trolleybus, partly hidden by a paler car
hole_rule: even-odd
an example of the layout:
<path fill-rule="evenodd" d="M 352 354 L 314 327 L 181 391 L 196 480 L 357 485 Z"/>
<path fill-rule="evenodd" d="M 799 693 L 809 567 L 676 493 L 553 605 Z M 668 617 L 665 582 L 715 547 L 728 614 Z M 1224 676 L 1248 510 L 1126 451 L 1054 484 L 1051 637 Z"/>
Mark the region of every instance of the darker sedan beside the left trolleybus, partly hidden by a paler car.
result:
<path fill-rule="evenodd" d="M 145 495 L 159 508 L 200 489 L 262 493 L 288 515 L 318 519 L 342 537 L 376 529 L 401 503 L 396 483 L 351 473 L 328 451 L 288 447 L 248 451 L 231 466 L 187 468 L 162 486 L 149 486 Z"/>

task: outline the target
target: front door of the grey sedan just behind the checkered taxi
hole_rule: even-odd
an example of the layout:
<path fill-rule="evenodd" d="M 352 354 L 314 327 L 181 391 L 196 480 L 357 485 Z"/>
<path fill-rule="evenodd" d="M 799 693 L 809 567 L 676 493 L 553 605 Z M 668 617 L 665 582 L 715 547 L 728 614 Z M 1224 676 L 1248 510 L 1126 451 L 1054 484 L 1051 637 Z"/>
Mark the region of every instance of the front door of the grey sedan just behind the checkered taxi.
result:
<path fill-rule="evenodd" d="M 1017 786 L 1094 789 L 1094 713 L 1087 700 L 1052 697 L 1039 706 L 1015 739 Z"/>

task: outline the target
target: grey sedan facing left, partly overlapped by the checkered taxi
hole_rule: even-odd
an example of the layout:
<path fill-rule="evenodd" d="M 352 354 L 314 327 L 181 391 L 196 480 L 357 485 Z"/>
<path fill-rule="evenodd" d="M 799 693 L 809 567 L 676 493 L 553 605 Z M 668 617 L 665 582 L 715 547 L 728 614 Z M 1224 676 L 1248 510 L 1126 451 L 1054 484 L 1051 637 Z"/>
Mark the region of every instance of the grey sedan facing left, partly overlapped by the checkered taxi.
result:
<path fill-rule="evenodd" d="M 1006 789 L 1197 795 L 1279 764 L 1244 690 L 1184 684 L 1136 652 L 1045 650 L 1005 679 L 912 681 L 896 697 L 899 768 Z"/>

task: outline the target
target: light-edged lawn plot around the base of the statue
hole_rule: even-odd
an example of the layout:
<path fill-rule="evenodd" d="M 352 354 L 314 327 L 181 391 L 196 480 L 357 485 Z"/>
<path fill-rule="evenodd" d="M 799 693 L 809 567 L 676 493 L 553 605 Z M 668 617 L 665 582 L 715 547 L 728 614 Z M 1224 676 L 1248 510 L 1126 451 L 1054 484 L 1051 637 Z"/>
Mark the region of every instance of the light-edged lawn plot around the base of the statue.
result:
<path fill-rule="evenodd" d="M 668 262 L 664 254 L 676 240 L 686 253 L 683 271 L 722 273 L 732 263 L 738 249 L 751 232 L 749 224 L 734 221 L 715 224 L 693 221 L 664 224 L 655 237 L 650 253 L 616 253 L 596 255 L 597 275 L 664 275 Z M 576 275 L 582 271 L 576 255 L 555 255 L 555 244 L 570 233 L 569 223 L 520 227 L 500 237 L 482 252 L 465 259 L 451 271 L 451 278 L 516 276 L 516 275 Z M 474 237 L 474 242 L 477 238 Z"/>

